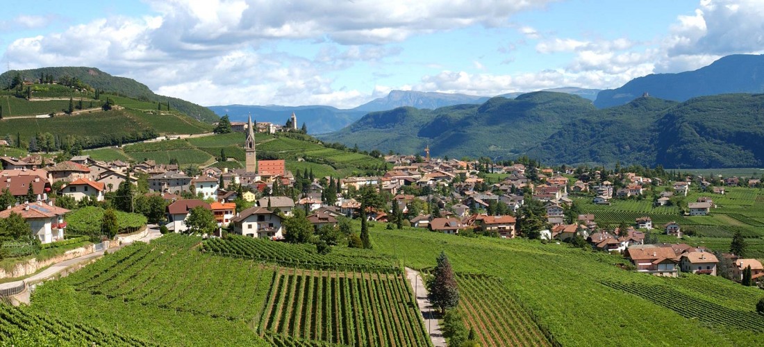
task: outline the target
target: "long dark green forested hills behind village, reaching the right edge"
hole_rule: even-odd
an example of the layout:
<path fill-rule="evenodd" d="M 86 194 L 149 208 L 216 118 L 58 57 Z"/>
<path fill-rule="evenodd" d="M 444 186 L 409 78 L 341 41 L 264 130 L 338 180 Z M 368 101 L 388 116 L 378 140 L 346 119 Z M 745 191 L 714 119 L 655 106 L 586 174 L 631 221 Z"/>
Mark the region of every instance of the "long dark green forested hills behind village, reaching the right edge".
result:
<path fill-rule="evenodd" d="M 667 101 L 640 97 L 597 109 L 555 92 L 491 98 L 421 110 L 372 112 L 322 140 L 361 149 L 433 156 L 514 159 L 547 164 L 663 165 L 666 168 L 764 165 L 764 95 L 732 94 Z"/>

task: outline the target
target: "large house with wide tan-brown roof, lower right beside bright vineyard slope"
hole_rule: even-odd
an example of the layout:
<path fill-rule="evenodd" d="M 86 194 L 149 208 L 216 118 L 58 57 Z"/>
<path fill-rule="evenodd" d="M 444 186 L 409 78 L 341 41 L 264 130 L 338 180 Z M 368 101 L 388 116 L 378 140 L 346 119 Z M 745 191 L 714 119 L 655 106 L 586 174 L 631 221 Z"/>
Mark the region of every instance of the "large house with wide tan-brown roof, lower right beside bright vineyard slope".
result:
<path fill-rule="evenodd" d="M 679 276 L 679 259 L 671 247 L 631 246 L 624 256 L 636 266 L 636 271 L 664 277 Z"/>

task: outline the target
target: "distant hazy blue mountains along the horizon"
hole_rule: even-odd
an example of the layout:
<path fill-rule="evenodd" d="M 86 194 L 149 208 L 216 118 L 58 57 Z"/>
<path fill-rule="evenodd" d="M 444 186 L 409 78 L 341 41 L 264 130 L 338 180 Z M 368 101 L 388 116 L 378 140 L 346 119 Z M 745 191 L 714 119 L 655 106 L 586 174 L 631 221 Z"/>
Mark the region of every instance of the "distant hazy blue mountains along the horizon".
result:
<path fill-rule="evenodd" d="M 545 89 L 552 92 L 564 92 L 572 95 L 580 95 L 594 101 L 599 89 L 586 89 L 576 87 L 564 87 Z M 515 98 L 523 93 L 510 93 L 500 95 L 505 98 Z M 225 106 L 209 106 L 215 114 L 228 117 L 234 121 L 245 121 L 249 114 L 257 121 L 267 121 L 275 124 L 285 124 L 292 112 L 296 114 L 299 124 L 306 123 L 308 132 L 312 134 L 330 133 L 347 127 L 369 112 L 388 111 L 393 108 L 414 107 L 422 109 L 435 109 L 455 104 L 482 104 L 489 97 L 478 95 L 465 95 L 438 92 L 416 92 L 393 90 L 382 98 L 376 98 L 366 104 L 350 109 L 339 109 L 324 105 L 309 106 L 279 106 L 279 105 L 242 105 L 231 104 Z"/>

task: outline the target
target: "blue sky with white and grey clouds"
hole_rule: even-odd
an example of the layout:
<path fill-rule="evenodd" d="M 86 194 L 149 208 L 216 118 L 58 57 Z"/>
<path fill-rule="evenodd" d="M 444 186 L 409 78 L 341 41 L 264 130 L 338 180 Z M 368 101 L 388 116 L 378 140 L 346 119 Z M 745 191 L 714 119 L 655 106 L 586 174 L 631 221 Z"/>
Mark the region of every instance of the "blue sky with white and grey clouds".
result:
<path fill-rule="evenodd" d="M 764 50 L 764 0 L 15 4 L 0 14 L 2 71 L 97 67 L 205 106 L 617 88 Z"/>

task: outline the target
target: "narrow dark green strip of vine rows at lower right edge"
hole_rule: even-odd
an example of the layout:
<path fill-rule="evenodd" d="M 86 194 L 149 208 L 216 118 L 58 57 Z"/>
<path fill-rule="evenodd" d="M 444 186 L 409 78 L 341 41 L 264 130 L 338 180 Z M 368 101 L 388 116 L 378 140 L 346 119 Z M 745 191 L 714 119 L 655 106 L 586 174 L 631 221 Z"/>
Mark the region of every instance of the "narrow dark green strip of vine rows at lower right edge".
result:
<path fill-rule="evenodd" d="M 735 310 L 709 300 L 677 291 L 666 285 L 603 281 L 610 288 L 619 289 L 674 310 L 681 316 L 697 319 L 711 326 L 726 326 L 764 332 L 764 316 L 754 310 Z M 753 308 L 753 307 L 752 307 Z"/>

